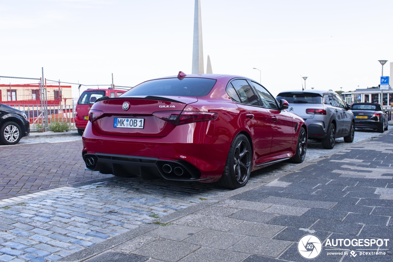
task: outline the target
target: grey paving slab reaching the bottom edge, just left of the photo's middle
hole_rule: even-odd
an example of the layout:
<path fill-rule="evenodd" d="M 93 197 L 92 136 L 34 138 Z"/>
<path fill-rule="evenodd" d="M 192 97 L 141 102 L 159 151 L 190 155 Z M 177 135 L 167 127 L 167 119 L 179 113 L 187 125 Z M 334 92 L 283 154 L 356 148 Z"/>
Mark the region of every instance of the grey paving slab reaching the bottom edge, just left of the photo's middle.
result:
<path fill-rule="evenodd" d="M 158 239 L 133 253 L 158 260 L 175 262 L 199 249 L 199 246 L 168 239 Z"/>

